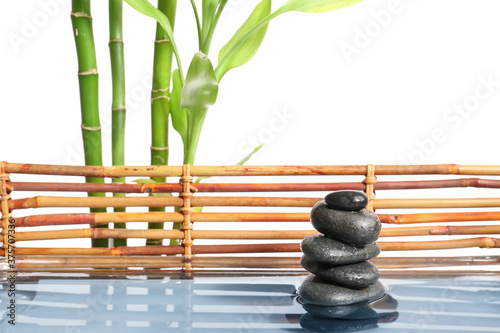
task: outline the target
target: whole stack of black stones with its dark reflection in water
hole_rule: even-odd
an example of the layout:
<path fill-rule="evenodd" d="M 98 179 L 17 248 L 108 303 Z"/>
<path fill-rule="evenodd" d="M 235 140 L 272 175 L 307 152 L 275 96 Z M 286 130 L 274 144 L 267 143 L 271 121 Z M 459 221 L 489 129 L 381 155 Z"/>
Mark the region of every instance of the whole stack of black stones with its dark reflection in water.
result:
<path fill-rule="evenodd" d="M 367 260 L 380 253 L 375 241 L 381 223 L 365 208 L 367 204 L 363 192 L 337 191 L 313 207 L 311 223 L 321 234 L 306 237 L 301 244 L 301 264 L 312 273 L 298 289 L 308 312 L 301 318 L 304 328 L 321 327 L 329 319 L 341 319 L 348 326 L 352 320 L 356 325 L 364 321 L 376 325 L 378 314 L 371 305 L 385 295 L 385 289 L 377 267 Z"/>

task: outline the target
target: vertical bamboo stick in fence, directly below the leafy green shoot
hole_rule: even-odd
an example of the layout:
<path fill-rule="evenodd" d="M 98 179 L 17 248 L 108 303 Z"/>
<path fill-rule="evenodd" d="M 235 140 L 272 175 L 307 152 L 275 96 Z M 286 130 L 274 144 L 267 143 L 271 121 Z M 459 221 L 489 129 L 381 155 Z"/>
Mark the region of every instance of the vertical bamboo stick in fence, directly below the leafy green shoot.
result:
<path fill-rule="evenodd" d="M 184 246 L 184 257 L 186 259 L 184 270 L 187 274 L 190 274 L 191 268 L 191 248 L 193 246 L 193 240 L 191 238 L 191 233 L 193 231 L 193 223 L 191 222 L 191 213 L 193 212 L 193 208 L 191 207 L 191 197 L 193 193 L 192 189 L 193 177 L 191 176 L 190 165 L 185 164 L 182 168 L 182 177 L 181 184 L 183 191 L 179 194 L 184 203 L 180 209 L 182 215 L 184 215 L 184 222 L 182 224 L 181 229 L 184 231 L 184 239 L 182 241 L 182 245 Z"/>

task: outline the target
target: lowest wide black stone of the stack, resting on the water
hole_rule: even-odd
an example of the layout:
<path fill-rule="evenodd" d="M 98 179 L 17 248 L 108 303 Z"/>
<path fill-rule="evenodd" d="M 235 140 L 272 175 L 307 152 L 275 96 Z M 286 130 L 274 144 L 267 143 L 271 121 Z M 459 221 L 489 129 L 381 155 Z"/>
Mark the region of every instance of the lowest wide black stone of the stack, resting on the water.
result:
<path fill-rule="evenodd" d="M 298 288 L 298 294 L 304 303 L 337 306 L 381 298 L 385 294 L 385 289 L 380 281 L 365 289 L 335 286 L 311 274 Z"/>

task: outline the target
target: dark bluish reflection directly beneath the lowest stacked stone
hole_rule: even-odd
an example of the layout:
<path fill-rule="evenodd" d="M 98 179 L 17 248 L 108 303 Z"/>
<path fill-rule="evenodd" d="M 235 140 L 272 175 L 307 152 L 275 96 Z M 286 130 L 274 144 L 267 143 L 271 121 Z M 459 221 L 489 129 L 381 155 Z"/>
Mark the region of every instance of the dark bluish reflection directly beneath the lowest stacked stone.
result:
<path fill-rule="evenodd" d="M 378 318 L 377 311 L 370 308 L 368 302 L 339 306 L 320 306 L 306 303 L 302 304 L 302 307 L 315 316 L 328 319 L 359 320 Z"/>

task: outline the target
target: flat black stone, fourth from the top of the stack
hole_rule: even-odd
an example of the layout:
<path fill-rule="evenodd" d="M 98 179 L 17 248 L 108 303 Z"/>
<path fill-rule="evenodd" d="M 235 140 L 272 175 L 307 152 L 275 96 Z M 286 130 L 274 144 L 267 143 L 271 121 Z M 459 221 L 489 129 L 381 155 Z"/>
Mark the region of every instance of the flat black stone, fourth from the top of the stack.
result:
<path fill-rule="evenodd" d="M 353 289 L 366 288 L 377 282 L 380 277 L 377 267 L 369 261 L 330 266 L 303 255 L 300 263 L 306 270 L 329 283 Z"/>

